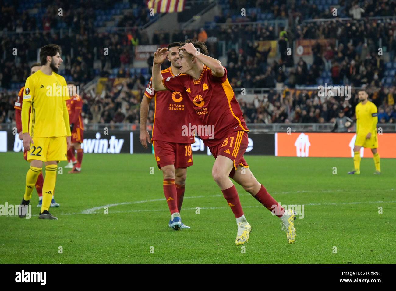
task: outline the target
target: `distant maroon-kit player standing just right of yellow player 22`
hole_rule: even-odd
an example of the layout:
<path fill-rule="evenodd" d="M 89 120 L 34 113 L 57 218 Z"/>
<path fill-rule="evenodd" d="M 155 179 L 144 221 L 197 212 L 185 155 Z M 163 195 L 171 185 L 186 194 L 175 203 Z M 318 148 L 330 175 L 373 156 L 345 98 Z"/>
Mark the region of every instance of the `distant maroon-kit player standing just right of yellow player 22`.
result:
<path fill-rule="evenodd" d="M 67 111 L 69 112 L 71 146 L 67 151 L 67 159 L 72 163 L 73 169 L 69 171 L 69 174 L 76 174 L 81 172 L 81 163 L 83 150 L 81 148 L 82 140 L 84 139 L 84 124 L 82 122 L 82 99 L 74 90 L 76 84 L 69 82 L 67 84 L 69 88 L 70 99 L 66 101 Z M 74 152 L 77 150 L 77 160 L 74 157 Z M 75 163 L 74 163 L 75 162 Z M 70 165 L 69 163 L 69 165 Z M 66 167 L 68 167 L 67 165 Z"/>

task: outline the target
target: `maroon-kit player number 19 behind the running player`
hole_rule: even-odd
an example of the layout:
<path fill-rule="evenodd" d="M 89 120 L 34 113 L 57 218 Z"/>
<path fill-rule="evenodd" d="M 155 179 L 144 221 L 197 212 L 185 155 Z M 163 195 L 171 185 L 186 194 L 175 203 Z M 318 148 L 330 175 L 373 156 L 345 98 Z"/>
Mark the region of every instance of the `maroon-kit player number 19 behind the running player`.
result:
<path fill-rule="evenodd" d="M 166 49 L 171 66 L 160 71 L 164 78 L 179 74 L 180 42 L 169 44 Z M 170 128 L 181 128 L 188 123 L 186 112 L 187 95 L 181 92 L 155 92 L 148 82 L 145 96 L 142 98 L 140 107 L 140 142 L 147 149 L 150 143 L 150 134 L 147 131 L 148 108 L 154 98 L 154 124 L 152 128 L 152 143 L 154 146 L 154 157 L 158 168 L 164 176 L 164 194 L 168 202 L 171 219 L 169 227 L 174 230 L 190 228 L 181 222 L 180 211 L 183 204 L 187 167 L 192 166 L 191 143 L 194 137 L 183 136 L 181 132 L 169 130 Z"/>

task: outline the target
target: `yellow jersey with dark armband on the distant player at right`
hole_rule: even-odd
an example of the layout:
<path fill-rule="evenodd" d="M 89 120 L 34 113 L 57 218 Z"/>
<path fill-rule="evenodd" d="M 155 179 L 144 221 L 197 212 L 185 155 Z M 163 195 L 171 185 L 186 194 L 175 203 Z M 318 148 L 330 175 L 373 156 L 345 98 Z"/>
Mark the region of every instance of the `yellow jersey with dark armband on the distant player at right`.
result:
<path fill-rule="evenodd" d="M 378 122 L 377 106 L 373 102 L 367 101 L 366 104 L 360 102 L 356 105 L 356 134 L 367 135 L 369 132 L 377 131 Z"/>

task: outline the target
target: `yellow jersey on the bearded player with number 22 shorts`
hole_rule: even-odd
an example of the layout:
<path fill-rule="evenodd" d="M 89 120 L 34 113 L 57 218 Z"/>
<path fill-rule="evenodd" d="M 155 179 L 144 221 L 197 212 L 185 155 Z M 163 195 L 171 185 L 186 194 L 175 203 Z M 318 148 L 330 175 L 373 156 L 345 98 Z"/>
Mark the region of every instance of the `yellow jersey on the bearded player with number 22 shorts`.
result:
<path fill-rule="evenodd" d="M 65 78 L 38 70 L 29 76 L 23 90 L 23 102 L 31 101 L 29 134 L 32 138 L 66 136 L 63 103 L 69 100 Z M 69 124 L 68 124 L 69 126 Z"/>

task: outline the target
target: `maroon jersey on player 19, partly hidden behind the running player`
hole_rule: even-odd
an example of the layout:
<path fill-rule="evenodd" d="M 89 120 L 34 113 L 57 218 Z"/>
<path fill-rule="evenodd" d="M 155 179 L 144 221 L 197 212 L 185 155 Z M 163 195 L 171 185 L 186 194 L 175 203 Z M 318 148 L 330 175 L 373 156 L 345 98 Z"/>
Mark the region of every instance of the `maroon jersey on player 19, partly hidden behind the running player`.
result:
<path fill-rule="evenodd" d="M 161 71 L 163 78 L 173 77 L 171 67 Z M 154 97 L 154 124 L 151 140 L 162 140 L 180 144 L 193 144 L 194 136 L 185 134 L 190 118 L 187 112 L 187 95 L 180 90 L 154 91 L 151 79 L 148 82 L 145 96 Z"/>

